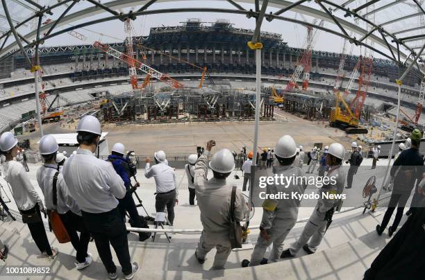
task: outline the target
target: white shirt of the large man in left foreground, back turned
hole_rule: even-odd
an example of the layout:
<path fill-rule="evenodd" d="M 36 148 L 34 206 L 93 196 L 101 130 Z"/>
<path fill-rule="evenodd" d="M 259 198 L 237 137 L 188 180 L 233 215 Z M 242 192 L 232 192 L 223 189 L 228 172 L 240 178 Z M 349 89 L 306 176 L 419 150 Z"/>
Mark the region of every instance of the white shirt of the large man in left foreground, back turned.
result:
<path fill-rule="evenodd" d="M 81 210 L 103 213 L 118 206 L 126 187 L 109 161 L 98 159 L 90 150 L 78 149 L 63 166 L 63 178 Z"/>

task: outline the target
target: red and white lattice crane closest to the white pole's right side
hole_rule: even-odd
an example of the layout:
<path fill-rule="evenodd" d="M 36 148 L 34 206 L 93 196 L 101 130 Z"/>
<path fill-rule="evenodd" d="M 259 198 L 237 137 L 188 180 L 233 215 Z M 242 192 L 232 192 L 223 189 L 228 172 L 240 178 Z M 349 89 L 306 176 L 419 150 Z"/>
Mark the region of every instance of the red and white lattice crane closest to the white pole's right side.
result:
<path fill-rule="evenodd" d="M 323 26 L 323 24 L 324 24 L 323 20 L 319 22 L 319 26 Z M 294 73 L 292 73 L 290 81 L 288 82 L 288 85 L 286 85 L 285 91 L 288 91 L 290 89 L 294 89 L 294 87 L 297 87 L 297 81 L 299 80 L 299 77 L 301 76 L 301 73 L 303 71 L 304 71 L 304 75 L 303 75 L 302 87 L 303 87 L 303 90 L 308 89 L 308 81 L 310 80 L 310 69 L 311 69 L 311 51 L 313 50 L 313 46 L 315 46 L 316 34 L 317 34 L 317 30 L 313 30 L 311 26 L 307 27 L 306 44 L 304 46 L 303 54 L 301 55 L 301 60 L 299 60 L 297 68 L 295 68 L 294 70 Z"/>

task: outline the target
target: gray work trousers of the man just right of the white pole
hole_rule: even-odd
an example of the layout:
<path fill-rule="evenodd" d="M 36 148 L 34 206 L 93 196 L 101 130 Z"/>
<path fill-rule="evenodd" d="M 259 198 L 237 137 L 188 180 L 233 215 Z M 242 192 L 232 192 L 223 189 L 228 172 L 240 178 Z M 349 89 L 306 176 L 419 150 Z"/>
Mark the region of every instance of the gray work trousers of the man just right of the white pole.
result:
<path fill-rule="evenodd" d="M 251 261 L 249 266 L 259 265 L 264 257 L 264 254 L 273 243 L 272 252 L 270 252 L 269 262 L 276 263 L 279 260 L 283 251 L 283 241 L 288 236 L 292 227 L 294 227 L 297 220 L 274 220 L 273 225 L 270 229 L 267 229 L 267 235 L 270 237 L 269 240 L 258 236 L 256 247 L 251 255 Z"/>

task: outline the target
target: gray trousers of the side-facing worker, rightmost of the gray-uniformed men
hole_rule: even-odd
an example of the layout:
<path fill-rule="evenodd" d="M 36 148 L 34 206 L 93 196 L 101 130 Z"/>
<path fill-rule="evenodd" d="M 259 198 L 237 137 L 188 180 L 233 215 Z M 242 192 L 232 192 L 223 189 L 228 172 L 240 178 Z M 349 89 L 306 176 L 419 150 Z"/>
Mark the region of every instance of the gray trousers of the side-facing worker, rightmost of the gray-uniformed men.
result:
<path fill-rule="evenodd" d="M 297 242 L 290 246 L 289 250 L 292 255 L 295 256 L 301 247 L 307 244 L 308 240 L 310 240 L 308 243 L 308 249 L 310 249 L 311 252 L 316 252 L 317 247 L 319 247 L 322 242 L 328 221 L 325 220 L 325 213 L 317 214 L 316 210 L 317 208 L 315 208 L 313 214 L 311 214 L 310 219 L 308 220 L 306 227 L 304 227 L 303 232 L 301 232 L 301 236 L 299 236 Z"/>

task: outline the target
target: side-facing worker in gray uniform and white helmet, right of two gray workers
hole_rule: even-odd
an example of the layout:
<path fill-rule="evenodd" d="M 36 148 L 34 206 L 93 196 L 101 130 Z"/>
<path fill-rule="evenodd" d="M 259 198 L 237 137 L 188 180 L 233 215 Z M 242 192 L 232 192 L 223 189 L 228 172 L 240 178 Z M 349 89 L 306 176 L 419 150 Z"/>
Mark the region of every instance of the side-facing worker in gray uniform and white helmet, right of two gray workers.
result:
<path fill-rule="evenodd" d="M 319 189 L 319 200 L 301 236 L 299 236 L 297 242 L 292 244 L 288 250 L 282 252 L 281 258 L 295 256 L 301 247 L 308 254 L 316 252 L 317 247 L 322 242 L 326 229 L 331 225 L 335 209 L 340 205 L 340 199 L 326 198 L 323 193 L 338 195 L 344 190 L 345 175 L 342 171 L 344 155 L 345 148 L 340 143 L 332 143 L 329 146 L 326 158 L 326 164 L 329 166 L 327 176 L 334 177 L 335 184 L 326 184 Z"/>

